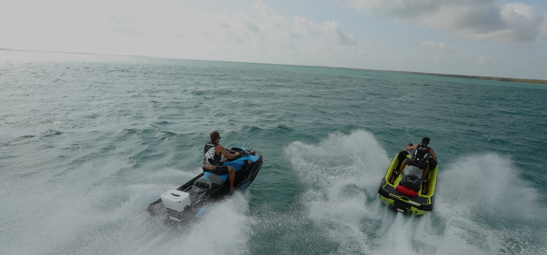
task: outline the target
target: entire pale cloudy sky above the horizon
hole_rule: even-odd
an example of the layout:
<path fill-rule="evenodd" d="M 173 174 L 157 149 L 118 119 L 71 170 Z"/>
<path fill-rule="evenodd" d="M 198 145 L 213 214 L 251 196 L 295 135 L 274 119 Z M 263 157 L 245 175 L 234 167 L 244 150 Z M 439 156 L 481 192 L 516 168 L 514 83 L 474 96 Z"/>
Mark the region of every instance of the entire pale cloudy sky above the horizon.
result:
<path fill-rule="evenodd" d="M 0 0 L 0 24 L 13 50 L 547 79 L 545 0 Z"/>

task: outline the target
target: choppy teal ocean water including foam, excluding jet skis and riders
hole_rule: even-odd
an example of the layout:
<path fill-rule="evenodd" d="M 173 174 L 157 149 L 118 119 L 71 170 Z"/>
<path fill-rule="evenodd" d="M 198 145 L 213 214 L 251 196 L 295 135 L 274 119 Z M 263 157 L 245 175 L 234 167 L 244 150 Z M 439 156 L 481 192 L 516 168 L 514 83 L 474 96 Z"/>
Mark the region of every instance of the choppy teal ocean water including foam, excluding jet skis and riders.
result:
<path fill-rule="evenodd" d="M 0 51 L 0 254 L 545 254 L 547 86 L 334 68 Z M 263 153 L 184 230 L 147 206 L 208 134 Z M 435 206 L 377 194 L 424 136 Z"/>

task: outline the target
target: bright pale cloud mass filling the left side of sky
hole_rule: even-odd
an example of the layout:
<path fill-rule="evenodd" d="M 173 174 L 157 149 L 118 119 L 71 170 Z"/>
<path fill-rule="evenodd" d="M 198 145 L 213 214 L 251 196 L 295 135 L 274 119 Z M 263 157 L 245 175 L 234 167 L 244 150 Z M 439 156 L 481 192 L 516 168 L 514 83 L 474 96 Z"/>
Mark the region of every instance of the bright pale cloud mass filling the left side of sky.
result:
<path fill-rule="evenodd" d="M 169 0 L 22 0 L 1 7 L 0 48 L 9 49 L 288 63 L 283 59 L 318 57 L 318 49 L 347 52 L 356 43 L 335 21 L 287 19 L 261 0 L 231 13 Z"/>

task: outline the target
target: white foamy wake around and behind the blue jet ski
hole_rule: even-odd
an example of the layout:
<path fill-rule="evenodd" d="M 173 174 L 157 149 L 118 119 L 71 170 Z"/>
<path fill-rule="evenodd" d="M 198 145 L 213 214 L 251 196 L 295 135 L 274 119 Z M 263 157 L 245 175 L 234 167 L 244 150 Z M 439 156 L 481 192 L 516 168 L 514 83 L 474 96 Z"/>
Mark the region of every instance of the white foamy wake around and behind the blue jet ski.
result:
<path fill-rule="evenodd" d="M 201 171 L 201 169 L 199 169 Z M 109 170 L 110 171 L 110 170 Z M 92 171 L 86 172 L 92 175 Z M 97 173 L 101 176 L 103 173 Z M 164 169 L 165 179 L 196 173 Z M 165 178 L 168 176 L 169 178 Z M 154 178 L 151 178 L 152 180 Z M 77 179 L 73 179 L 77 180 Z M 27 180 L 28 181 L 28 180 Z M 85 181 L 11 193 L 3 200 L 11 215 L 3 230 L 2 254 L 242 254 L 247 253 L 252 218 L 248 201 L 237 194 L 215 206 L 196 224 L 173 230 L 150 217 L 148 204 L 172 183 L 89 185 Z M 176 183 L 178 186 L 180 183 Z M 40 194 L 36 194 L 39 192 Z M 33 195 L 34 194 L 34 195 Z M 31 210 L 30 210 L 31 209 Z M 24 213 L 23 213 L 24 212 Z M 9 245 L 8 245 L 9 244 Z"/>

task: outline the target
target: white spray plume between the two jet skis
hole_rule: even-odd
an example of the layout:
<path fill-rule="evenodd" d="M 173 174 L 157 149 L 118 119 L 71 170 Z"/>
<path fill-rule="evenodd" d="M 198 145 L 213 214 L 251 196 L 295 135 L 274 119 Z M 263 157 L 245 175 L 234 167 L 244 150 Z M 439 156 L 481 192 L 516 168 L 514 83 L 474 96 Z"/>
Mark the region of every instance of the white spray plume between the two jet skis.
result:
<path fill-rule="evenodd" d="M 339 243 L 337 252 L 370 251 L 370 237 L 362 224 L 365 219 L 380 221 L 375 186 L 384 174 L 379 169 L 389 162 L 373 135 L 334 133 L 318 145 L 296 141 L 287 150 L 293 155 L 294 169 L 309 186 L 301 201 L 328 239 Z"/>

